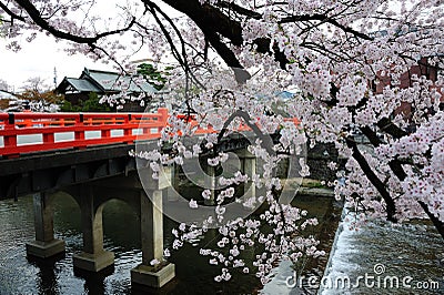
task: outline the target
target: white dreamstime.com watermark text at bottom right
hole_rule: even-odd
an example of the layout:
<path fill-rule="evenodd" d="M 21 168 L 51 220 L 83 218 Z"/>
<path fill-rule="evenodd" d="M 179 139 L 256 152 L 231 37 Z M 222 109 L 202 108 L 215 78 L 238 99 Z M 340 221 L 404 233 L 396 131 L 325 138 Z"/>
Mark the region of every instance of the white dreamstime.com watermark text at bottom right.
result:
<path fill-rule="evenodd" d="M 384 288 L 384 289 L 431 289 L 438 291 L 440 282 L 416 281 L 412 276 L 396 276 L 385 274 L 385 265 L 375 264 L 373 273 L 364 273 L 356 277 L 339 275 L 335 277 L 324 276 L 297 276 L 296 272 L 287 276 L 285 284 L 289 288 L 322 288 L 322 289 L 354 289 L 354 288 Z"/>

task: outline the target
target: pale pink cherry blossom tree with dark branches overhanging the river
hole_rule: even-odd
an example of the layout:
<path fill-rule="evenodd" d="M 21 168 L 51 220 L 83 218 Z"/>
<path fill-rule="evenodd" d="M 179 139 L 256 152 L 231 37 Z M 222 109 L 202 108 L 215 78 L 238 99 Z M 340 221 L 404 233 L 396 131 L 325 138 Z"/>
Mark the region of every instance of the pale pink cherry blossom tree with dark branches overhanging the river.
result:
<path fill-rule="evenodd" d="M 112 61 L 122 71 L 131 71 L 129 58 L 141 51 L 159 62 L 175 59 L 179 65 L 171 71 L 170 88 L 182 91 L 189 110 L 199 114 L 221 106 L 239 110 L 238 118 L 253 121 L 266 133 L 279 132 L 281 148 L 304 140 L 310 145 L 334 143 L 347 161 L 337 172 L 344 181 L 330 184 L 355 213 L 356 226 L 370 217 L 402 222 L 427 216 L 444 238 L 442 1 L 132 0 L 105 18 L 100 17 L 99 2 L 1 0 L 0 30 L 10 39 L 11 50 L 20 49 L 19 38 L 32 41 L 44 32 L 69 41 L 68 52 Z M 261 93 L 273 96 L 290 88 L 296 93 L 285 111 L 300 120 L 300 129 L 266 111 L 272 99 L 259 100 Z M 406 105 L 408 111 L 401 112 Z M 201 119 L 222 133 L 235 121 L 218 126 L 208 116 Z M 181 135 L 192 132 L 190 124 L 174 118 L 170 123 L 163 140 L 175 141 L 173 161 L 181 163 L 199 146 L 189 151 L 180 143 Z M 372 149 L 362 149 L 356 134 L 363 134 Z M 208 136 L 210 148 L 216 141 Z M 261 145 L 252 150 L 273 169 L 276 159 L 266 156 L 270 151 Z M 152 161 L 154 174 L 155 161 L 165 160 L 158 153 L 143 156 Z M 266 250 L 254 263 L 263 282 L 273 262 L 284 256 L 296 261 L 321 254 L 315 241 L 294 238 L 315 221 L 303 221 L 300 210 L 275 202 L 279 181 L 263 176 L 268 190 L 262 201 L 269 208 L 260 221 L 221 225 L 220 251 L 201 251 L 211 256 L 210 263 L 223 265 L 216 281 L 231 277 L 229 267 L 249 272 L 238 257 L 254 243 Z M 242 175 L 232 181 L 242 182 Z M 218 217 L 232 195 L 221 194 Z M 196 207 L 192 201 L 190 206 Z M 261 222 L 275 231 L 262 233 Z M 173 247 L 199 231 L 181 225 Z"/>

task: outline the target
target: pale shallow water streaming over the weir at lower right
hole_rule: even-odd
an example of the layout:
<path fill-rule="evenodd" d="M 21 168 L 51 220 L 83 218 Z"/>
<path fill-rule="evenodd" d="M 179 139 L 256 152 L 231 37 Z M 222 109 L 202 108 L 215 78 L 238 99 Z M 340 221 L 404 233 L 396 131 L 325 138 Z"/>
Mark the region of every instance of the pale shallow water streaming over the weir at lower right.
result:
<path fill-rule="evenodd" d="M 322 295 L 444 294 L 444 243 L 426 221 L 340 224 Z"/>

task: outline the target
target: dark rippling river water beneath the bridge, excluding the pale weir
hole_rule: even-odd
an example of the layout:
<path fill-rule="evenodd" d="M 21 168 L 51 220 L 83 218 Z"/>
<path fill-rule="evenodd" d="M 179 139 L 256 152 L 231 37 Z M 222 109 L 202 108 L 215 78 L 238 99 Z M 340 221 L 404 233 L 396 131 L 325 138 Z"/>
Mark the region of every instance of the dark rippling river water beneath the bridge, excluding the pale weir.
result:
<path fill-rule="evenodd" d="M 330 222 L 332 202 L 325 197 L 301 197 L 297 201 L 312 216 Z M 114 268 L 110 274 L 74 273 L 72 254 L 82 250 L 80 210 L 65 194 L 58 194 L 54 202 L 54 235 L 65 241 L 65 255 L 52 261 L 29 260 L 26 243 L 34 240 L 32 197 L 0 201 L 0 295 L 9 294 L 139 294 L 131 289 L 130 269 L 142 257 L 140 251 L 140 226 L 137 215 L 122 201 L 109 201 L 103 208 L 104 248 L 115 254 Z M 334 226 L 326 224 L 327 227 Z M 171 230 L 176 226 L 164 220 L 164 243 L 171 245 Z M 323 228 L 323 227 L 321 227 Z M 325 245 L 329 250 L 332 231 Z M 334 231 L 333 231 L 334 232 Z M 213 236 L 214 237 L 214 236 Z M 206 243 L 211 237 L 201 241 Z M 199 255 L 199 243 L 185 245 L 172 252 L 170 261 L 175 264 L 176 277 L 158 294 L 253 294 L 262 285 L 254 274 L 234 276 L 220 284 L 213 277 L 218 269 L 210 266 L 208 257 Z M 325 264 L 327 257 L 321 258 Z M 314 269 L 320 274 L 322 267 Z M 154 293 L 150 291 L 149 294 Z M 143 293 L 147 294 L 147 293 Z"/>

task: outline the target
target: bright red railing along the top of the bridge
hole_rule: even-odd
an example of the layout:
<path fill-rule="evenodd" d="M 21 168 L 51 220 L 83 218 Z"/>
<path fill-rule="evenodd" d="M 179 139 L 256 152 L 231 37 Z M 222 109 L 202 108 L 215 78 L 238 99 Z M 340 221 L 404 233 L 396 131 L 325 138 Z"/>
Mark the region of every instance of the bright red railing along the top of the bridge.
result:
<path fill-rule="evenodd" d="M 169 115 L 164 108 L 157 113 L 0 113 L 0 156 L 159 139 Z M 193 115 L 179 119 L 199 125 Z M 238 126 L 245 130 L 245 123 Z M 195 134 L 211 132 L 211 126 L 199 126 Z"/>

